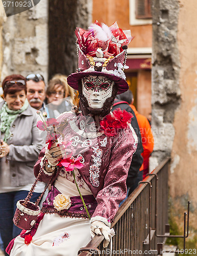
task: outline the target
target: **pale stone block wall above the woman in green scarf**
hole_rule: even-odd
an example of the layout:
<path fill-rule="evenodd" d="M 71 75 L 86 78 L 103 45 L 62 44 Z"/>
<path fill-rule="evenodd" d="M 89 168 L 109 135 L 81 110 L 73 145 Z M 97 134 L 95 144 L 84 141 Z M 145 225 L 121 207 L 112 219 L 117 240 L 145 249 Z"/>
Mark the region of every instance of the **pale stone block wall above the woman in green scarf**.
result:
<path fill-rule="evenodd" d="M 41 0 L 32 9 L 6 18 L 1 81 L 9 74 L 30 73 L 41 73 L 47 80 L 47 5 L 47 0 Z"/>

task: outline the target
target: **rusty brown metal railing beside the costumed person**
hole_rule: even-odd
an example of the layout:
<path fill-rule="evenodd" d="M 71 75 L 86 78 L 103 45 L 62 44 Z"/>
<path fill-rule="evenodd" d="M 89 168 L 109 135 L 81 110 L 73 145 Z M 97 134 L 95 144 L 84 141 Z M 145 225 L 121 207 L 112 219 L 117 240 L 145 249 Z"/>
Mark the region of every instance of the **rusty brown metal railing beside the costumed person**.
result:
<path fill-rule="evenodd" d="M 103 248 L 103 236 L 95 236 L 80 256 L 89 255 L 160 255 L 157 244 L 163 243 L 168 223 L 168 165 L 163 160 L 120 206 L 112 222 L 113 246 Z M 151 238 L 151 241 L 150 239 Z"/>

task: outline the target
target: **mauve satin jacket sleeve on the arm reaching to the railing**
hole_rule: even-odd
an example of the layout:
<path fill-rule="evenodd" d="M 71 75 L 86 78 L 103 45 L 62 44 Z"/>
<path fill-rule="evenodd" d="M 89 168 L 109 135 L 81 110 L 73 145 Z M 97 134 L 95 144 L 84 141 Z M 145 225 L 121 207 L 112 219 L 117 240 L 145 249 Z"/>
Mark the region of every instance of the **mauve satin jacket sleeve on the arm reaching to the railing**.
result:
<path fill-rule="evenodd" d="M 104 187 L 96 197 L 98 203 L 93 220 L 108 224 L 114 218 L 119 203 L 127 195 L 126 180 L 132 155 L 137 148 L 137 136 L 133 128 L 127 128 L 116 137 L 112 137 L 110 163 L 104 180 Z M 107 223 L 108 222 L 108 223 Z"/>

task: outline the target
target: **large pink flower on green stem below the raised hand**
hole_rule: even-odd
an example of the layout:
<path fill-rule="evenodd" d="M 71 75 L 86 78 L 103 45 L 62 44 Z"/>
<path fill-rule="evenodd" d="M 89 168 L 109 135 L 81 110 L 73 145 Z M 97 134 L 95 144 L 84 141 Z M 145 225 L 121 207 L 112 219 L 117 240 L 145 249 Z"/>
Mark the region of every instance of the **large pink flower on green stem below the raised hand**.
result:
<path fill-rule="evenodd" d="M 82 157 L 78 157 L 78 158 L 73 158 L 73 157 L 67 157 L 67 158 L 63 158 L 58 165 L 59 166 L 64 166 L 65 170 L 67 172 L 71 172 L 75 167 L 77 169 L 81 169 L 84 164 L 80 162 L 80 160 L 82 159 Z"/>

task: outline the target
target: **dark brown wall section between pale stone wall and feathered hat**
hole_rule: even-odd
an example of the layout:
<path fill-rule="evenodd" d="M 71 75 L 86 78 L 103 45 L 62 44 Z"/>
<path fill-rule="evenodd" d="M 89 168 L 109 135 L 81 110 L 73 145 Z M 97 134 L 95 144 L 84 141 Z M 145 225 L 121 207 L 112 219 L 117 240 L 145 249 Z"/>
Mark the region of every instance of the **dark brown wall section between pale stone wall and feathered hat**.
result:
<path fill-rule="evenodd" d="M 56 73 L 76 72 L 76 27 L 87 29 L 92 22 L 92 0 L 49 0 L 49 66 L 51 78 Z"/>

